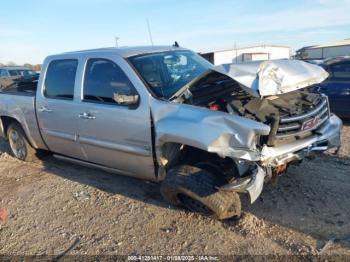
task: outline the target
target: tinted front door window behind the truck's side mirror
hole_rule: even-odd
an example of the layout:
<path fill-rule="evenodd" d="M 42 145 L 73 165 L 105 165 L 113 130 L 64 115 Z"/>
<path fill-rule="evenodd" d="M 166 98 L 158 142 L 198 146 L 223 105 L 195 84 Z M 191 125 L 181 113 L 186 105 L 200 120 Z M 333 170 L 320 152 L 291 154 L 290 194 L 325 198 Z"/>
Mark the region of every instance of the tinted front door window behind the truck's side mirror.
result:
<path fill-rule="evenodd" d="M 129 78 L 113 61 L 93 58 L 86 65 L 84 101 L 115 104 L 114 94 L 135 95 Z"/>

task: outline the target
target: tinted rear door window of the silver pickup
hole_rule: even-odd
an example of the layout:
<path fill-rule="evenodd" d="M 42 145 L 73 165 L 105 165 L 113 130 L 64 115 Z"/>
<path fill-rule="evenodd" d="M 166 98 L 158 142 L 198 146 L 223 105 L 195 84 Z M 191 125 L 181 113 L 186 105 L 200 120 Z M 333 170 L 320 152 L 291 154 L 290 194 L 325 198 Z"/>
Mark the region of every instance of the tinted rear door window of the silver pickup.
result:
<path fill-rule="evenodd" d="M 44 95 L 48 98 L 73 100 L 77 67 L 78 60 L 75 59 L 52 61 L 46 73 Z"/>

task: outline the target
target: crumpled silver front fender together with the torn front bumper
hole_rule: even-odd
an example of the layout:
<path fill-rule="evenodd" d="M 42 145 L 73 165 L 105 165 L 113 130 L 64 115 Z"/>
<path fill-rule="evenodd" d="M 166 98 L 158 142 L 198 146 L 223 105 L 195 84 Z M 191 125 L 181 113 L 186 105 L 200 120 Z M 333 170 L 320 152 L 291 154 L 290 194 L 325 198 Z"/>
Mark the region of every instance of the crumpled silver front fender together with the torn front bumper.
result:
<path fill-rule="evenodd" d="M 314 152 L 339 147 L 341 120 L 331 115 L 314 135 L 280 146 L 259 146 L 269 136 L 268 125 L 238 115 L 187 104 L 151 100 L 155 129 L 155 150 L 159 179 L 165 175 L 168 159 L 163 147 L 173 143 L 215 153 L 235 161 L 242 177 L 220 190 L 247 192 L 253 203 L 261 194 L 264 181 L 274 173 L 283 173 L 287 165 Z"/>

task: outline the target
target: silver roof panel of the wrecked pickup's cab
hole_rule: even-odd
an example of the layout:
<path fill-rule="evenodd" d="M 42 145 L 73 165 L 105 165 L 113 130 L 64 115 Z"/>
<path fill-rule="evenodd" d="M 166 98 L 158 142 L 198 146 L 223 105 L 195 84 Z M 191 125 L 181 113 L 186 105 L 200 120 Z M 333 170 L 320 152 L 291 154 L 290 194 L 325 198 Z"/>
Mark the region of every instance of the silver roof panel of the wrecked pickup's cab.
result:
<path fill-rule="evenodd" d="M 136 55 L 158 53 L 165 51 L 187 50 L 175 46 L 135 46 L 135 47 L 107 47 L 99 49 L 81 50 L 74 52 L 66 52 L 63 54 L 82 54 L 82 53 L 117 53 L 118 55 L 127 58 Z"/>

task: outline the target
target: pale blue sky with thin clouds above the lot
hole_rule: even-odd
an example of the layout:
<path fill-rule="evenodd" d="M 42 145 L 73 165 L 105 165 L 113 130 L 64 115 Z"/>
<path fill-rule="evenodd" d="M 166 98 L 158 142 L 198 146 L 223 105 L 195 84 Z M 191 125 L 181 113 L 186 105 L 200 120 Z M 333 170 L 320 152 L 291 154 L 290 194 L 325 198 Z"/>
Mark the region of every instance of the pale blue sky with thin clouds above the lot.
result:
<path fill-rule="evenodd" d="M 197 52 L 260 44 L 296 50 L 350 38 L 350 0 L 8 0 L 0 5 L 0 62 L 115 46 Z"/>

